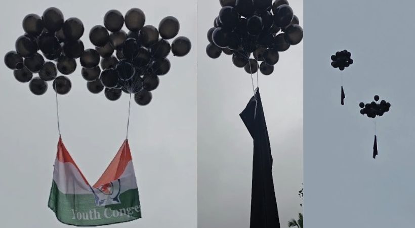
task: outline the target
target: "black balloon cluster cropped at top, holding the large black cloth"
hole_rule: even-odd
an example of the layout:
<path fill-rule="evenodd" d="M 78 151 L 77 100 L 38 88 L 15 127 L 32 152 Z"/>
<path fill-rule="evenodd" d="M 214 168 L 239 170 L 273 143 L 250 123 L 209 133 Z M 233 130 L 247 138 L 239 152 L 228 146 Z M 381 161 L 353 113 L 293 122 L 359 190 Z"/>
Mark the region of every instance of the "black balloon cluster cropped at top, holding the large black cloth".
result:
<path fill-rule="evenodd" d="M 218 58 L 222 52 L 247 73 L 269 75 L 286 51 L 303 39 L 299 19 L 287 0 L 220 0 L 222 9 L 208 31 L 206 53 Z M 279 31 L 282 31 L 278 33 Z M 253 58 L 251 54 L 253 53 Z M 258 61 L 262 61 L 259 65 Z"/>

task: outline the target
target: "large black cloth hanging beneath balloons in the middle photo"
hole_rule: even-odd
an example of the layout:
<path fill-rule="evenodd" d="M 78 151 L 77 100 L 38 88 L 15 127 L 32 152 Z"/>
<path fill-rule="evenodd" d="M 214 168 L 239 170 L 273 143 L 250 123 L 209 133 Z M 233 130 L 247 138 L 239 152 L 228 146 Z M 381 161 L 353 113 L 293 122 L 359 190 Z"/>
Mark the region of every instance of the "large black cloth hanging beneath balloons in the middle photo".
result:
<path fill-rule="evenodd" d="M 254 139 L 250 227 L 280 228 L 272 180 L 271 147 L 258 88 L 239 116 Z"/>

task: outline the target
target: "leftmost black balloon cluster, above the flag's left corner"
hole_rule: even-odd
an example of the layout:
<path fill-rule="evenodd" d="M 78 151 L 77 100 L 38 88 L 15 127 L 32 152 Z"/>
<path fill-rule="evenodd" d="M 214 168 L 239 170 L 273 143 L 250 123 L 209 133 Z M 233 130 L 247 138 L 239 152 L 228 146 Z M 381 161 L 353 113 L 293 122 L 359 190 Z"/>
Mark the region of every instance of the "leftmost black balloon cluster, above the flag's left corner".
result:
<path fill-rule="evenodd" d="M 72 85 L 64 75 L 75 71 L 75 59 L 84 53 L 84 44 L 79 40 L 84 34 L 82 22 L 74 17 L 64 20 L 62 12 L 51 7 L 41 17 L 36 14 L 24 17 L 23 30 L 25 34 L 16 40 L 16 50 L 5 55 L 6 66 L 14 70 L 17 81 L 29 82 L 35 95 L 47 91 L 48 81 L 53 81 L 56 93 L 67 94 Z M 45 62 L 45 58 L 51 61 Z M 64 75 L 57 77 L 58 71 Z M 34 73 L 38 77 L 33 77 Z"/>

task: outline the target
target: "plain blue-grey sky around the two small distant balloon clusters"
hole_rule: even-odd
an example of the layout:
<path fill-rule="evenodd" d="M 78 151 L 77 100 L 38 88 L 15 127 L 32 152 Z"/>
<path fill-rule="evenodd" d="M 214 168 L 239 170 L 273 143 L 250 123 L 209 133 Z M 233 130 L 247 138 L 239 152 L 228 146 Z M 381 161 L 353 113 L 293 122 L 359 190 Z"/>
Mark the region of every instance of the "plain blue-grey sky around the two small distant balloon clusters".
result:
<path fill-rule="evenodd" d="M 306 1 L 304 186 L 306 227 L 412 227 L 415 121 L 413 9 L 409 1 Z M 347 49 L 343 72 L 330 55 Z M 375 94 L 391 103 L 374 121 L 359 102 Z"/>

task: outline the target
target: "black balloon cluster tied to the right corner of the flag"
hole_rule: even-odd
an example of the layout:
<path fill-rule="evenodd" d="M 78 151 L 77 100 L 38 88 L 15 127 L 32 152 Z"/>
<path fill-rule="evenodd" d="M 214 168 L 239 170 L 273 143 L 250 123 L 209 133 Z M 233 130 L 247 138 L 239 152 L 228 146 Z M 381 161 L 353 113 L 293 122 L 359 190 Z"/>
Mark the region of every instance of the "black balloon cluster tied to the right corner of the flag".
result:
<path fill-rule="evenodd" d="M 150 91 L 158 87 L 158 76 L 170 70 L 167 58 L 170 51 L 174 56 L 190 52 L 187 37 L 177 37 L 172 45 L 168 41 L 179 32 L 180 24 L 175 17 L 163 18 L 158 29 L 144 24 L 145 15 L 138 8 L 130 9 L 125 16 L 110 10 L 104 16 L 104 26 L 91 29 L 89 38 L 96 48 L 85 50 L 81 71 L 91 93 L 100 93 L 105 87 L 105 97 L 109 100 L 117 100 L 125 92 L 134 94 L 139 105 L 146 105 L 152 99 Z M 122 30 L 124 25 L 128 33 Z"/>

